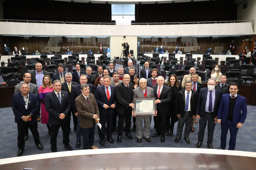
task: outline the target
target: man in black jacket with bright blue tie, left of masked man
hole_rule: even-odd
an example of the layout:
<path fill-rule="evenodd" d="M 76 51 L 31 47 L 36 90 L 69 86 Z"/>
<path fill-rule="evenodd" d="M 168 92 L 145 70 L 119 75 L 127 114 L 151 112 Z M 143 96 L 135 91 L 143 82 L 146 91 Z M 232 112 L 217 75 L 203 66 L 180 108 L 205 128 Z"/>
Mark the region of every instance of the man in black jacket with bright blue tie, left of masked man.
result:
<path fill-rule="evenodd" d="M 188 136 L 190 134 L 191 121 L 195 117 L 195 108 L 198 99 L 198 93 L 191 90 L 192 86 L 192 81 L 186 81 L 185 88 L 178 91 L 175 98 L 175 114 L 179 118 L 175 143 L 179 142 L 182 136 L 183 126 L 186 123 L 184 139 L 187 144 L 190 144 Z"/>

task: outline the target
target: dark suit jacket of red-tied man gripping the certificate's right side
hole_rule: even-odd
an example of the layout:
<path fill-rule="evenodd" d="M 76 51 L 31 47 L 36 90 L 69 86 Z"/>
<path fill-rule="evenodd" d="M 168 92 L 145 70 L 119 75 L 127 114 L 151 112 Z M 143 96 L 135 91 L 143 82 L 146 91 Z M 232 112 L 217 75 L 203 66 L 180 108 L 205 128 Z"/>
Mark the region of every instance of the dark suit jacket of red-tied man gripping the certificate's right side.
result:
<path fill-rule="evenodd" d="M 155 95 L 156 100 L 159 99 L 161 101 L 161 103 L 156 104 L 157 112 L 158 112 L 158 114 L 167 113 L 169 104 L 171 102 L 171 88 L 166 85 L 163 85 L 163 89 L 158 98 L 158 96 L 157 96 L 158 88 L 157 87 L 158 87 L 158 85 L 154 85 L 152 87 L 152 89 L 154 89 L 154 95 Z"/>

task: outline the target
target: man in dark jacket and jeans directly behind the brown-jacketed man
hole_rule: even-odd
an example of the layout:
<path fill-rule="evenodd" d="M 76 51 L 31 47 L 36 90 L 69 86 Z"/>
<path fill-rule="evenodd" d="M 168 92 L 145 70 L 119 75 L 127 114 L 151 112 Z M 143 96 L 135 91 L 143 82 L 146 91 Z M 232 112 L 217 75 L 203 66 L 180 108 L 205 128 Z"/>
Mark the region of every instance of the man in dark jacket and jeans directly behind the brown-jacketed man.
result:
<path fill-rule="evenodd" d="M 81 126 L 80 126 L 80 121 L 79 121 L 79 112 L 77 111 L 77 108 L 76 108 L 76 103 L 75 103 L 75 99 L 82 93 L 81 92 L 81 85 L 84 85 L 84 84 L 87 84 L 87 76 L 86 75 L 80 75 L 80 78 L 79 78 L 79 84 L 78 85 L 75 85 L 73 87 L 73 92 L 71 93 L 71 108 L 72 108 L 72 111 L 74 111 L 74 114 L 76 116 L 76 124 L 74 124 L 74 126 L 76 126 L 76 131 L 77 131 L 77 136 L 76 136 L 76 147 L 79 148 L 81 143 L 81 136 L 82 136 L 82 129 L 81 129 Z M 91 84 L 88 84 L 89 88 L 90 88 L 90 93 L 94 93 L 94 86 L 91 85 Z"/>

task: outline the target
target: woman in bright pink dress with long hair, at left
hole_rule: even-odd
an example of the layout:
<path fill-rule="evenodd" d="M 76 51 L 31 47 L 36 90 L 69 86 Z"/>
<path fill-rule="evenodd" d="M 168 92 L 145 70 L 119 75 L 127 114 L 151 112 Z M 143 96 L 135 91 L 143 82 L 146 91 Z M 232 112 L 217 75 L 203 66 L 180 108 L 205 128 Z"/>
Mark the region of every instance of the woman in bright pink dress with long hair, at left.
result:
<path fill-rule="evenodd" d="M 46 111 L 44 100 L 45 100 L 45 95 L 53 91 L 53 85 L 51 81 L 51 77 L 48 75 L 45 75 L 43 77 L 43 85 L 39 87 L 38 94 L 39 94 L 39 99 L 41 100 L 41 122 L 42 124 L 46 124 L 48 127 L 48 133 L 50 135 L 51 132 L 51 127 L 48 123 L 48 116 L 49 113 Z"/>

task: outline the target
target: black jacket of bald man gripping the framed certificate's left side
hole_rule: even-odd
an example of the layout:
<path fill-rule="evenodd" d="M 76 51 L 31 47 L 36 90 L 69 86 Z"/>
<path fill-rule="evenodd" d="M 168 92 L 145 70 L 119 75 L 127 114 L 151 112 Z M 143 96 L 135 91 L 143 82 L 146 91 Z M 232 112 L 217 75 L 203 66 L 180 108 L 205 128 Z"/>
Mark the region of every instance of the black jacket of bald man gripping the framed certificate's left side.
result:
<path fill-rule="evenodd" d="M 116 86 L 116 98 L 117 98 L 117 112 L 123 114 L 125 109 L 129 107 L 129 102 L 126 101 L 127 91 L 124 83 L 120 83 Z M 129 82 L 129 89 L 131 90 L 131 97 L 133 98 L 133 84 Z"/>

